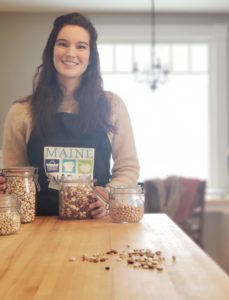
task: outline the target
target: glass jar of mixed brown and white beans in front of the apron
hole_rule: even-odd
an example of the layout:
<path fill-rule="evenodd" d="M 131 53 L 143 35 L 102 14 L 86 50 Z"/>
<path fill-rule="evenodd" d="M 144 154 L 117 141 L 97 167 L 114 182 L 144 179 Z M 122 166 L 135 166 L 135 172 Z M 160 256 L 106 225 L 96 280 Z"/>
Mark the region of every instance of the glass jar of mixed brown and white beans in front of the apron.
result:
<path fill-rule="evenodd" d="M 95 201 L 89 177 L 63 176 L 59 190 L 59 216 L 62 219 L 89 219 L 89 206 Z"/>

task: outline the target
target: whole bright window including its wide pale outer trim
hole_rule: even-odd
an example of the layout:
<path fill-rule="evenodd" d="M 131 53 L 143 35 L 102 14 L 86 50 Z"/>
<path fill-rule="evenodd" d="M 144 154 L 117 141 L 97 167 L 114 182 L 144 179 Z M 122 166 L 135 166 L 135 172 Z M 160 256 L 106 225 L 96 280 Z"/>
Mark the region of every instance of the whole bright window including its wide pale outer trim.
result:
<path fill-rule="evenodd" d="M 101 56 L 105 89 L 119 94 L 129 110 L 141 180 L 193 176 L 228 191 L 226 35 L 218 39 L 226 30 L 186 28 L 189 35 L 184 28 L 169 30 L 163 30 L 156 54 L 171 73 L 155 92 L 142 82 L 144 75 L 136 80 L 132 73 L 135 61 L 142 74 L 149 66 L 150 45 L 142 35 L 139 42 L 138 37 L 101 42 L 99 51 L 109 47 L 113 56 L 109 70 L 106 54 Z"/>

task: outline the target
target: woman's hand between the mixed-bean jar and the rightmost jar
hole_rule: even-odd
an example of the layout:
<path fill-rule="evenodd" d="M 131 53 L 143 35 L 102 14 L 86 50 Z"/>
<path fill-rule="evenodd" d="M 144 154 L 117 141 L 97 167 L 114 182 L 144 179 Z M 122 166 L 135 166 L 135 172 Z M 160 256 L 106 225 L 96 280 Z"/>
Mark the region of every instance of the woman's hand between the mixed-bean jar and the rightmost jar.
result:
<path fill-rule="evenodd" d="M 106 190 L 97 186 L 95 188 L 95 202 L 90 204 L 91 216 L 93 219 L 104 218 L 108 214 L 109 195 Z"/>

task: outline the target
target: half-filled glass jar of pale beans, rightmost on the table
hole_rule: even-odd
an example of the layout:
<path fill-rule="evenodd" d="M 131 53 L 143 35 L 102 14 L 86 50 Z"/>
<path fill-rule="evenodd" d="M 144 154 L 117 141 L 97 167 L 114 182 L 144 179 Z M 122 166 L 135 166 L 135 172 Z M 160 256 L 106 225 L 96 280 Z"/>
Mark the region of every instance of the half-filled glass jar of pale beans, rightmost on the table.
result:
<path fill-rule="evenodd" d="M 144 215 L 144 193 L 141 186 L 112 187 L 109 213 L 113 222 L 139 222 Z"/>

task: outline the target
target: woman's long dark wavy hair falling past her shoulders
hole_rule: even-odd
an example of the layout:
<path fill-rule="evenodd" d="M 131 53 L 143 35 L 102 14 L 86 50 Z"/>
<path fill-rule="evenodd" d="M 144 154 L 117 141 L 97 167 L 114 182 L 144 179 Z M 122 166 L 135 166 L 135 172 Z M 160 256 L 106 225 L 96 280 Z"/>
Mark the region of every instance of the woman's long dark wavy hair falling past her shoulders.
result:
<path fill-rule="evenodd" d="M 33 93 L 30 96 L 33 117 L 33 130 L 44 136 L 51 128 L 52 119 L 62 101 L 63 93 L 53 64 L 53 48 L 59 31 L 66 25 L 77 25 L 90 35 L 90 64 L 83 74 L 80 87 L 75 92 L 79 101 L 79 126 L 82 133 L 102 126 L 106 131 L 114 131 L 110 123 L 110 102 L 103 90 L 97 49 L 97 32 L 85 16 L 70 13 L 55 19 L 53 29 L 42 55 L 42 64 L 38 66 L 33 81 Z"/>

